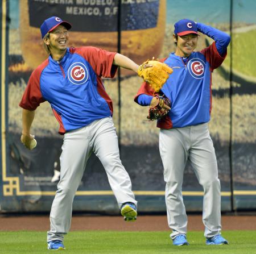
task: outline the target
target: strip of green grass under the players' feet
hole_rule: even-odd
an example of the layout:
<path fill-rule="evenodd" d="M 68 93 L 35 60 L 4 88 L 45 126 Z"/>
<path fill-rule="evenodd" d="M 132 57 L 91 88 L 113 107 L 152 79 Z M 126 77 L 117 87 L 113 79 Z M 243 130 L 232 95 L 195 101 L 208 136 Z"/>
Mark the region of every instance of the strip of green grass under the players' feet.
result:
<path fill-rule="evenodd" d="M 225 231 L 229 245 L 205 245 L 203 232 L 189 232 L 189 246 L 172 245 L 169 232 L 73 231 L 65 237 L 65 253 L 205 254 L 256 253 L 256 231 Z M 0 253 L 49 253 L 46 232 L 0 232 Z"/>

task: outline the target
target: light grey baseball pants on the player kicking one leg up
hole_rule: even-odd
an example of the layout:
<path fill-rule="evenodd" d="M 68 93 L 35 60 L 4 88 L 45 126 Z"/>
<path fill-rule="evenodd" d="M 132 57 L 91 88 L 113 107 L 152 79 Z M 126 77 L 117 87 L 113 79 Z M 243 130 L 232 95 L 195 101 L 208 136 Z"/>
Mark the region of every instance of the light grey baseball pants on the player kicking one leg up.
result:
<path fill-rule="evenodd" d="M 113 120 L 111 117 L 95 120 L 88 126 L 64 135 L 60 156 L 60 181 L 51 208 L 51 230 L 47 232 L 48 242 L 63 241 L 63 235 L 69 231 L 73 198 L 92 152 L 100 159 L 106 170 L 119 208 L 125 202 L 132 202 L 137 206 L 131 191 L 129 174 L 119 157 Z"/>

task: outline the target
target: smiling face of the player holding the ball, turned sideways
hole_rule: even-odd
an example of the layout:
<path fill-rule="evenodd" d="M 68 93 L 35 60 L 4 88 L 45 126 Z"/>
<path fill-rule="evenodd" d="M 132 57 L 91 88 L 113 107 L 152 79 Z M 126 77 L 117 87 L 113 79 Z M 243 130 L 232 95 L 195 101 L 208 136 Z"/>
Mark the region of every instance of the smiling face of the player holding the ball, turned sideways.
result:
<path fill-rule="evenodd" d="M 68 48 L 68 30 L 64 26 L 57 26 L 54 30 L 49 32 L 48 38 L 44 43 L 48 45 L 51 55 L 64 55 Z M 53 57 L 54 59 L 54 57 Z"/>

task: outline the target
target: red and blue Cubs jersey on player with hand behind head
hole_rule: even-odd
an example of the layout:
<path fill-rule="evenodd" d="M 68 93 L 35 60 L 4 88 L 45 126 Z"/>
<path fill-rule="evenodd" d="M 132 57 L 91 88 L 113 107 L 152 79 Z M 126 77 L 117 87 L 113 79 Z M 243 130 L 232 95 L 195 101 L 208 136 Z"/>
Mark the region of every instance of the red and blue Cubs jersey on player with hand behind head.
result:
<path fill-rule="evenodd" d="M 200 52 L 192 52 L 185 64 L 183 58 L 171 53 L 163 59 L 174 72 L 161 91 L 171 101 L 168 115 L 158 120 L 159 128 L 179 128 L 207 123 L 212 109 L 212 72 L 224 61 L 215 42 Z M 153 95 L 146 83 L 139 89 L 135 102 L 141 94 Z"/>

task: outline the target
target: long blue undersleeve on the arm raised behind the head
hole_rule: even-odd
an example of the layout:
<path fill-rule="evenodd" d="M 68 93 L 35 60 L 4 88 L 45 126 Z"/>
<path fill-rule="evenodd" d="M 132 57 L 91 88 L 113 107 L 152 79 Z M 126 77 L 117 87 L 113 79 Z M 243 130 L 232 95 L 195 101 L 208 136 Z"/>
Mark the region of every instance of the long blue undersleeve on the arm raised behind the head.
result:
<path fill-rule="evenodd" d="M 228 47 L 230 42 L 230 36 L 225 32 L 222 32 L 216 28 L 207 26 L 202 23 L 196 23 L 196 25 L 197 25 L 197 30 L 199 32 L 209 36 L 215 41 L 215 45 L 218 53 L 220 53 L 221 56 L 224 56 L 226 53 L 226 48 Z"/>

